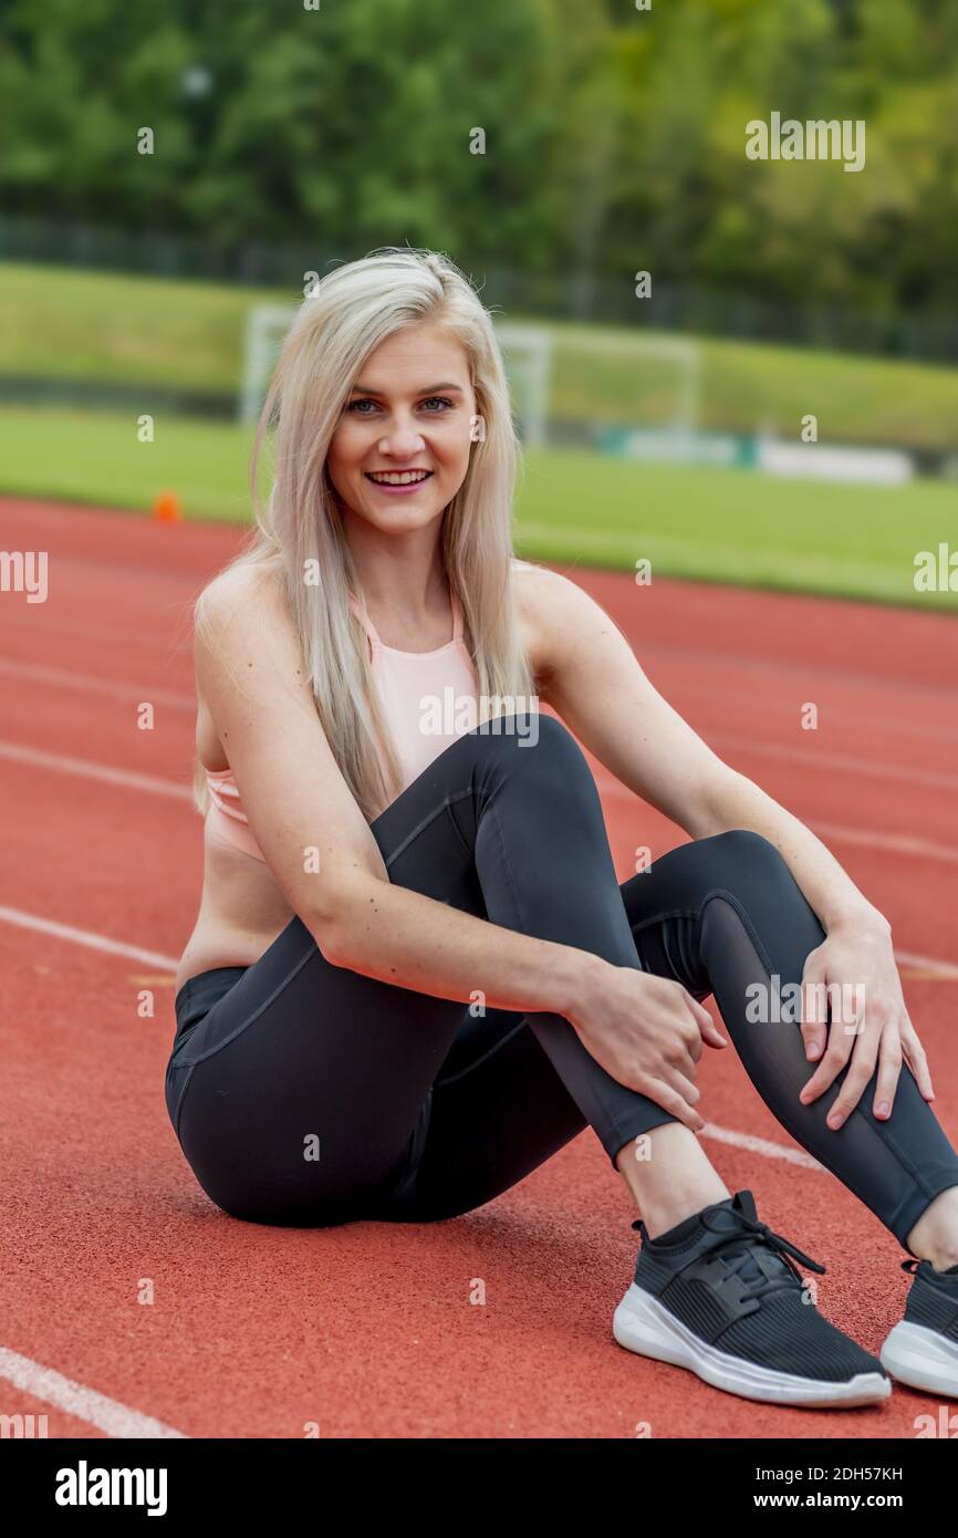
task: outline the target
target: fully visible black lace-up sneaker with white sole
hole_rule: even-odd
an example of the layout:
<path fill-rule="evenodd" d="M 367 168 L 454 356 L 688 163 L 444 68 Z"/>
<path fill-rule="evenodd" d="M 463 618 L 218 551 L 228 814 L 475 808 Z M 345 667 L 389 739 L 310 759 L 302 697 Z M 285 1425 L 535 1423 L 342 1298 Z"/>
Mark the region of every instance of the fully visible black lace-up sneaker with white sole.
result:
<path fill-rule="evenodd" d="M 743 1400 L 846 1409 L 887 1400 L 892 1383 L 878 1358 L 806 1301 L 787 1255 L 823 1275 L 824 1266 L 758 1221 L 750 1190 L 657 1240 L 641 1220 L 632 1227 L 641 1249 L 612 1320 L 620 1346 Z"/>

